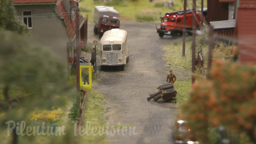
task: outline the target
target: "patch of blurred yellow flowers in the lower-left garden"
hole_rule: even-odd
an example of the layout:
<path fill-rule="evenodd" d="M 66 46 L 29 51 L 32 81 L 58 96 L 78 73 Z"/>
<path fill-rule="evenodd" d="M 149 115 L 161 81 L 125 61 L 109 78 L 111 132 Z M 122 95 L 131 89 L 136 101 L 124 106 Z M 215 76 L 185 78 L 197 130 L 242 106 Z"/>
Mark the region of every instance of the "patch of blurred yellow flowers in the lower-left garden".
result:
<path fill-rule="evenodd" d="M 34 111 L 32 112 L 31 120 L 50 120 L 56 121 L 63 114 L 61 108 L 56 110 L 43 110 L 43 111 Z"/>

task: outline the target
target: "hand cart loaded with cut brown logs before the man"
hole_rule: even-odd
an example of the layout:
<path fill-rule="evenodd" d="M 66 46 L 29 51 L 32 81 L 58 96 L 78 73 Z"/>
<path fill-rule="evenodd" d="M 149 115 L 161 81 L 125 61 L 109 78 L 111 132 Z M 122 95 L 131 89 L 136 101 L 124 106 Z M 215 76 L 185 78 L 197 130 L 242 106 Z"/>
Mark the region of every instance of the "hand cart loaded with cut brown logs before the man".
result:
<path fill-rule="evenodd" d="M 157 101 L 162 98 L 165 101 L 174 100 L 176 103 L 177 91 L 174 90 L 172 82 L 158 86 L 157 90 L 158 92 L 149 94 L 147 100 L 154 99 L 154 101 Z"/>

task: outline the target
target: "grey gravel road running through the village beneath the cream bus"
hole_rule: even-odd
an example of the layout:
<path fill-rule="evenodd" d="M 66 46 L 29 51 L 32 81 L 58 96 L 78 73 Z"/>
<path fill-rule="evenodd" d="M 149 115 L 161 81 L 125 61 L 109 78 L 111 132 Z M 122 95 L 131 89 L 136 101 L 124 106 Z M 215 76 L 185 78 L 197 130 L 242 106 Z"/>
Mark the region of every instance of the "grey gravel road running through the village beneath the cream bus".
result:
<path fill-rule="evenodd" d="M 148 101 L 150 93 L 164 84 L 169 68 L 163 60 L 162 46 L 181 39 L 159 38 L 154 23 L 122 22 L 120 29 L 128 32 L 129 62 L 124 71 L 119 67 L 97 72 L 100 81 L 93 88 L 106 96 L 106 117 L 109 125 L 136 126 L 136 135 L 107 136 L 111 144 L 172 144 L 168 125 L 175 118 L 176 104 Z M 88 42 L 99 40 L 88 23 Z"/>

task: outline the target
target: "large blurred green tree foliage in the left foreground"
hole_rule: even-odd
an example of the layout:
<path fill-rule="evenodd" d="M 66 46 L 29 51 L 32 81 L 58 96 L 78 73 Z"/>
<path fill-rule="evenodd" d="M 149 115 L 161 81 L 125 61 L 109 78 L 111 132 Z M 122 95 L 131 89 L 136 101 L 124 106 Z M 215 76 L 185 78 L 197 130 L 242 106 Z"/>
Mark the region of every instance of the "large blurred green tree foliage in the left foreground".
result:
<path fill-rule="evenodd" d="M 26 126 L 30 125 L 35 122 L 31 116 L 35 110 L 54 110 L 66 106 L 68 96 L 76 97 L 79 94 L 68 84 L 68 74 L 63 64 L 55 60 L 46 47 L 30 44 L 24 36 L 17 36 L 11 31 L 0 31 L 0 44 L 1 130 L 7 128 L 5 122 L 9 120 L 25 121 Z M 58 138 L 65 140 L 72 135 Z M 32 139 L 28 138 L 29 141 Z M 52 139 L 60 140 L 56 137 Z M 68 138 L 68 143 L 72 143 L 72 140 Z"/>

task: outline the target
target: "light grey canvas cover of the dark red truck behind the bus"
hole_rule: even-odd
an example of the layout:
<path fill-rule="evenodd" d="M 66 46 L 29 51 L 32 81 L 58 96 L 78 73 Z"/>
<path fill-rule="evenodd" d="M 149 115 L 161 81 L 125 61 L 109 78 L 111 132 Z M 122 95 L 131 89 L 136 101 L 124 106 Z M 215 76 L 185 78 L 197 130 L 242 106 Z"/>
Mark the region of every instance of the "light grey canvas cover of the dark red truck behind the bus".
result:
<path fill-rule="evenodd" d="M 96 24 L 98 24 L 101 16 L 103 16 L 103 15 L 109 16 L 110 14 L 112 14 L 113 17 L 116 17 L 116 18 L 119 17 L 119 12 L 117 12 L 113 7 L 95 6 L 93 21 Z"/>

